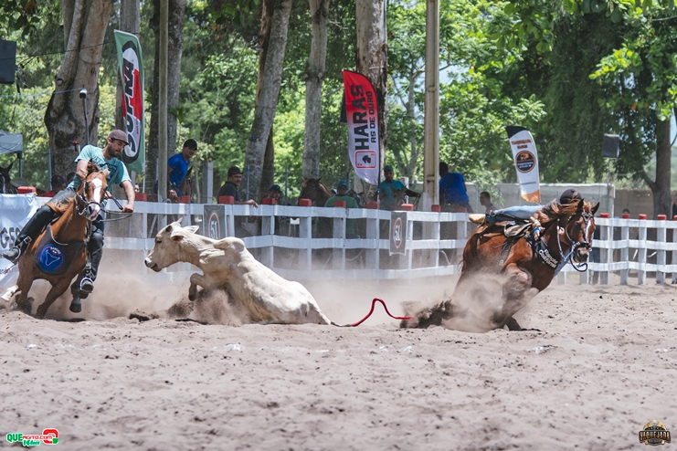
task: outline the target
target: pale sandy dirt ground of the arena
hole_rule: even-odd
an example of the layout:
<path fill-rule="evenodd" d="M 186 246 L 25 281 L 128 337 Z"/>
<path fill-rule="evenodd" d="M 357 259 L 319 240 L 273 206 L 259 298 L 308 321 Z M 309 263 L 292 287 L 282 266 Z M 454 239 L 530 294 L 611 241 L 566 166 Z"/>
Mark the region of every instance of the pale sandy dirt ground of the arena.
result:
<path fill-rule="evenodd" d="M 542 331 L 468 333 L 379 308 L 357 328 L 176 321 L 185 283 L 126 279 L 100 279 L 80 315 L 0 310 L 0 447 L 45 428 L 64 450 L 645 449 L 650 420 L 677 431 L 672 285 L 554 285 L 517 317 Z M 344 323 L 453 285 L 307 286 Z M 238 324 L 212 302 L 192 318 Z"/>

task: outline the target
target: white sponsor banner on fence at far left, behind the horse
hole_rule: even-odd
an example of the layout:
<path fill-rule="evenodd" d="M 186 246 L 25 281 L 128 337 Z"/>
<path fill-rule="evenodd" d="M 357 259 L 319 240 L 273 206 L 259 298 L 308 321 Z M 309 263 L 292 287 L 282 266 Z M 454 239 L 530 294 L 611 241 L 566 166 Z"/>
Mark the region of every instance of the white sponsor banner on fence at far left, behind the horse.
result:
<path fill-rule="evenodd" d="M 32 194 L 0 194 L 0 253 L 14 246 L 16 236 L 38 206 L 36 196 Z M 14 285 L 17 275 L 17 267 L 0 257 L 0 288 Z"/>

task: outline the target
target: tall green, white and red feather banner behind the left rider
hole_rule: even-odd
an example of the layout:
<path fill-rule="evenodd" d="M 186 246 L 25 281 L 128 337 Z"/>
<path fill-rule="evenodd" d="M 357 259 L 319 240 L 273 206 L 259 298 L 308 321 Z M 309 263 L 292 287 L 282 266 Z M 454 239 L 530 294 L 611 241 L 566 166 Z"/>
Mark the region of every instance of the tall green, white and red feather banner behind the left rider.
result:
<path fill-rule="evenodd" d="M 114 30 L 118 48 L 118 67 L 122 79 L 122 131 L 127 133 L 129 145 L 122 152 L 127 168 L 143 173 L 145 142 L 143 123 L 143 58 L 139 39 L 130 33 Z"/>

